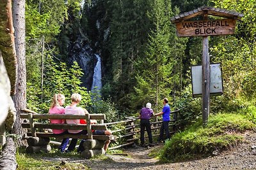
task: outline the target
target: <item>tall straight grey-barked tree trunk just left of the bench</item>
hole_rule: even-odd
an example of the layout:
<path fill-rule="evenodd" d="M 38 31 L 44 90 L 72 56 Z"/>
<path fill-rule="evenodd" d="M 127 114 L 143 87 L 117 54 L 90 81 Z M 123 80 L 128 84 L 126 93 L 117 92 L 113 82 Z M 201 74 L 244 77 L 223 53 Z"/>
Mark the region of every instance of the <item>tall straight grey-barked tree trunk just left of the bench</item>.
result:
<path fill-rule="evenodd" d="M 17 54 L 17 83 L 15 107 L 17 119 L 13 127 L 15 134 L 24 135 L 21 127 L 20 113 L 26 108 L 26 56 L 25 56 L 25 0 L 13 0 L 13 26 L 15 29 L 15 48 Z M 26 145 L 22 139 L 17 141 L 18 146 Z"/>

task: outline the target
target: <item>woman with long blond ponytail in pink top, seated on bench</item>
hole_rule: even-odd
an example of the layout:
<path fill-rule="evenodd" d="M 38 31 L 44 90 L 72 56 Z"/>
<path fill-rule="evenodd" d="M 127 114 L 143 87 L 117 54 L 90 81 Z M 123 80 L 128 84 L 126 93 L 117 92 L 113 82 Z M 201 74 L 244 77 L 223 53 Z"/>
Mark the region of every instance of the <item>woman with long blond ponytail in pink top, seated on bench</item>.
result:
<path fill-rule="evenodd" d="M 49 114 L 52 115 L 58 115 L 58 114 L 64 114 L 65 109 L 62 107 L 63 104 L 65 103 L 65 96 L 63 94 L 54 94 L 52 97 L 52 103 L 51 103 L 51 108 L 49 110 Z M 50 120 L 51 124 L 65 124 L 65 120 L 62 119 L 51 119 Z M 67 130 L 63 129 L 52 129 L 52 132 L 54 134 L 67 134 Z M 68 145 L 69 138 L 64 138 L 61 142 L 61 145 L 59 146 L 59 150 L 61 153 L 65 151 L 66 146 Z"/>

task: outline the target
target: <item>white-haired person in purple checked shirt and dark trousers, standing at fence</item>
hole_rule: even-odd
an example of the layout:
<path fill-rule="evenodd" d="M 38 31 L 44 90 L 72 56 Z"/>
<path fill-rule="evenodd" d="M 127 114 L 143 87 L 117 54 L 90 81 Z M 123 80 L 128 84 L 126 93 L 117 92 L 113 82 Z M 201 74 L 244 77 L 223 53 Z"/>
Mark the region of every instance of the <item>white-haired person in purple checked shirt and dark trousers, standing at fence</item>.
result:
<path fill-rule="evenodd" d="M 150 125 L 150 118 L 154 115 L 154 111 L 151 108 L 151 103 L 147 103 L 145 108 L 142 108 L 140 111 L 140 144 L 145 146 L 144 133 L 145 128 L 148 133 L 148 142 L 149 146 L 154 146 Z"/>

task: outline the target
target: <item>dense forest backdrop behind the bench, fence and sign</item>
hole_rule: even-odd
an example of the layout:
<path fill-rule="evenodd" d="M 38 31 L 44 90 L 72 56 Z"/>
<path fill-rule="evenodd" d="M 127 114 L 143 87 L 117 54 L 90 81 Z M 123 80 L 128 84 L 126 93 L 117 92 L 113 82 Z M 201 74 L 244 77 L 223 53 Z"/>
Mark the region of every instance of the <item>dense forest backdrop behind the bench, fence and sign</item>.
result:
<path fill-rule="evenodd" d="M 82 107 L 111 121 L 138 114 L 147 102 L 160 111 L 168 97 L 172 110 L 184 108 L 183 125 L 195 121 L 201 100 L 191 94 L 190 67 L 202 64 L 202 37 L 178 38 L 170 18 L 204 5 L 244 14 L 236 34 L 209 37 L 224 89 L 211 97 L 211 114 L 247 106 L 255 101 L 255 1 L 28 0 L 27 107 L 47 113 L 54 93 L 68 99 L 78 92 Z M 96 56 L 102 83 L 93 90 Z"/>

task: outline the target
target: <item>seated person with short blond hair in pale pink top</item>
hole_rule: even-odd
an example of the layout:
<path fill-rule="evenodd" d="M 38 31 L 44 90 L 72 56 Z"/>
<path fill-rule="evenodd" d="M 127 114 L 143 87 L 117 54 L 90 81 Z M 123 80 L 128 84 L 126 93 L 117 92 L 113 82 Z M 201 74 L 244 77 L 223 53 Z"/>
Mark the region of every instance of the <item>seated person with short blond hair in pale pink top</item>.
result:
<path fill-rule="evenodd" d="M 71 96 L 70 106 L 66 106 L 65 115 L 85 115 L 83 108 L 77 107 L 80 103 L 82 97 L 80 94 L 74 93 Z M 80 124 L 80 119 L 67 119 L 67 124 Z M 86 130 L 68 130 L 70 134 L 87 134 Z M 77 139 L 72 139 L 70 145 L 68 146 L 67 152 L 71 152 L 76 148 Z M 83 145 L 83 143 L 80 143 Z M 79 148 L 83 146 L 79 145 Z M 77 150 L 79 152 L 79 150 Z"/>

